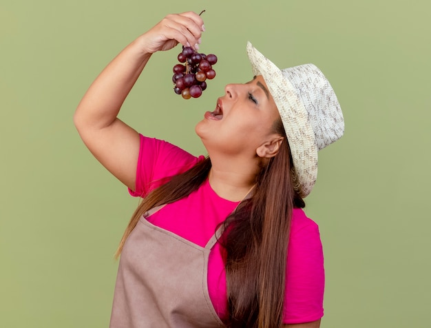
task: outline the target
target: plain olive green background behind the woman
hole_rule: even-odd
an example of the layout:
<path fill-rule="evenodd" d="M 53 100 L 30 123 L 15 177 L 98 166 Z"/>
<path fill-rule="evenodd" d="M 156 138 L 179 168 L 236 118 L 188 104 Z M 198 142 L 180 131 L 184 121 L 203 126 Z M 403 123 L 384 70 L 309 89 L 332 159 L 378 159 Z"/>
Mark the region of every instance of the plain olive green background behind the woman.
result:
<path fill-rule="evenodd" d="M 0 3 L 0 327 L 107 327 L 113 254 L 134 208 L 78 137 L 85 90 L 165 14 L 206 9 L 218 55 L 200 99 L 172 91 L 180 48 L 156 54 L 123 106 L 136 130 L 204 153 L 194 125 L 251 78 L 249 40 L 281 68 L 315 63 L 345 136 L 319 153 L 306 212 L 326 258 L 324 328 L 430 327 L 429 1 Z"/>

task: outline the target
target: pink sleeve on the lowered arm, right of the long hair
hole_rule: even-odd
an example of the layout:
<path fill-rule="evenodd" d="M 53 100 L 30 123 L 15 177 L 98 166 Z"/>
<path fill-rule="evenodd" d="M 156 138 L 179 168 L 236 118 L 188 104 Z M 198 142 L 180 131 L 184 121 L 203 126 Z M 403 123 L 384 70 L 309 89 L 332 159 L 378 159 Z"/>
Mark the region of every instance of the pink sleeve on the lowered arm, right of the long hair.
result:
<path fill-rule="evenodd" d="M 302 218 L 297 221 L 301 222 L 292 223 L 288 243 L 285 324 L 311 322 L 324 315 L 325 273 L 319 227 L 305 214 L 299 216 Z"/>

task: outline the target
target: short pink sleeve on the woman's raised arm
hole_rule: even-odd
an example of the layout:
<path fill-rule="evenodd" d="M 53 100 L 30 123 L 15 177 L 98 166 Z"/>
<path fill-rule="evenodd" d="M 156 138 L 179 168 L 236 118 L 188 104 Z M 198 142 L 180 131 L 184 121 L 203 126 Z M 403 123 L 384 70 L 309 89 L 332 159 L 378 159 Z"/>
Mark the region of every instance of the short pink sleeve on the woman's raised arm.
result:
<path fill-rule="evenodd" d="M 136 187 L 132 196 L 145 196 L 167 182 L 167 178 L 189 170 L 204 156 L 193 156 L 167 141 L 140 134 L 140 149 L 136 167 Z"/>

